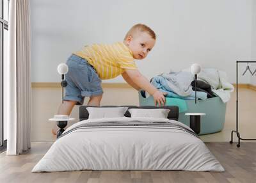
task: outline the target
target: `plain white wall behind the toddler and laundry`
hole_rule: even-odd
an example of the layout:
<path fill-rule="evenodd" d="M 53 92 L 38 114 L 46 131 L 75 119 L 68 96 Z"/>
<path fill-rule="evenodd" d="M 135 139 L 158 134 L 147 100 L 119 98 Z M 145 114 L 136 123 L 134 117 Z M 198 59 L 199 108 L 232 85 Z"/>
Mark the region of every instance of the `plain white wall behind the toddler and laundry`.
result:
<path fill-rule="evenodd" d="M 146 77 L 196 62 L 225 70 L 235 83 L 236 60 L 252 56 L 252 1 L 31 0 L 31 80 L 60 81 L 57 65 L 72 52 L 85 44 L 122 41 L 128 29 L 141 22 L 157 33 L 148 58 L 138 61 Z M 248 83 L 250 77 L 240 81 Z"/>

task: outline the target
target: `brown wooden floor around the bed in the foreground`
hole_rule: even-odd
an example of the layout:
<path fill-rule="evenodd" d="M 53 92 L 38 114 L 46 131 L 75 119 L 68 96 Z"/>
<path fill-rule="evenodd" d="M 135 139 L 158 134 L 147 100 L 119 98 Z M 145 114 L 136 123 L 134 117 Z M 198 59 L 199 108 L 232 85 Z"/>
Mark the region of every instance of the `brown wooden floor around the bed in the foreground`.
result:
<path fill-rule="evenodd" d="M 52 143 L 32 143 L 22 155 L 0 154 L 0 182 L 256 182 L 256 143 L 205 143 L 225 172 L 196 171 L 64 171 L 31 173 Z"/>

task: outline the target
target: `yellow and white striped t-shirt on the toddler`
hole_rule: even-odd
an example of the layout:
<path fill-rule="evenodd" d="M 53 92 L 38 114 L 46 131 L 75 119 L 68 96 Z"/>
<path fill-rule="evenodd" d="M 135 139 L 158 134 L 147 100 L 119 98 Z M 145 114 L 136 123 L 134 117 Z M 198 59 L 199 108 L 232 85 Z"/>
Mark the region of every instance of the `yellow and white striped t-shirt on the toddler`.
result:
<path fill-rule="evenodd" d="M 97 70 L 100 79 L 114 78 L 125 69 L 138 69 L 131 50 L 122 42 L 93 44 L 74 54 L 86 59 Z"/>

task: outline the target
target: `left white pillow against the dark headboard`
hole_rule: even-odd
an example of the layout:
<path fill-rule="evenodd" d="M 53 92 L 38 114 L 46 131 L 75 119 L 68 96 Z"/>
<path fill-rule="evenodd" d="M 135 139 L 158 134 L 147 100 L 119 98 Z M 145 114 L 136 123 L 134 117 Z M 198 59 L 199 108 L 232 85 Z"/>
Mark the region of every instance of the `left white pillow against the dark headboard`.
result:
<path fill-rule="evenodd" d="M 89 118 L 119 118 L 125 117 L 124 114 L 128 107 L 86 107 Z"/>

